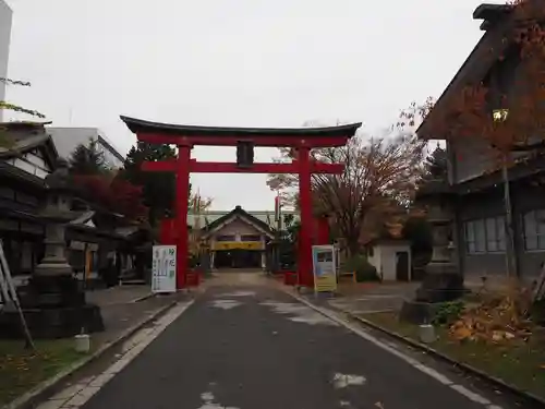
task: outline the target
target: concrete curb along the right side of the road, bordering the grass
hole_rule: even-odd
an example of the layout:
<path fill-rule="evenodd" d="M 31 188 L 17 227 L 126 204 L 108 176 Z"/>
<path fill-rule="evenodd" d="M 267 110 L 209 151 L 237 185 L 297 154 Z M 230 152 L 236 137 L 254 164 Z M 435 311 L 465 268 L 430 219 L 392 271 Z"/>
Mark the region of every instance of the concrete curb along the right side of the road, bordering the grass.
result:
<path fill-rule="evenodd" d="M 324 313 L 324 311 L 322 311 L 322 308 L 314 304 L 312 301 L 310 300 L 306 300 L 304 299 L 303 297 L 299 296 L 299 294 L 295 294 L 284 288 L 281 289 L 283 292 L 286 292 L 287 294 L 293 297 L 295 300 L 298 301 L 301 301 L 303 302 L 304 304 L 311 306 L 312 309 L 314 309 L 315 311 L 319 312 L 320 314 L 323 315 L 326 315 Z M 462 363 L 462 362 L 459 362 L 459 361 L 456 361 L 455 359 L 446 356 L 445 353 L 443 352 L 439 352 L 433 348 L 429 348 L 428 346 L 424 345 L 424 344 L 421 344 L 421 342 L 417 342 L 411 338 L 408 338 L 408 337 L 404 337 L 400 334 L 397 334 L 390 329 L 387 329 L 380 325 L 377 325 L 368 320 L 365 320 L 365 318 L 362 318 L 361 316 L 358 316 L 358 315 L 354 315 L 350 312 L 347 312 L 347 311 L 341 311 L 342 314 L 346 314 L 350 320 L 352 321 L 356 321 L 370 328 L 373 328 L 373 329 L 376 329 L 376 330 L 379 330 L 380 333 L 391 337 L 391 338 L 395 338 L 397 339 L 398 341 L 401 341 L 410 347 L 413 347 L 415 349 L 419 349 L 423 352 L 426 352 L 428 353 L 429 356 L 434 357 L 434 358 L 437 358 L 444 362 L 447 362 L 458 369 L 460 369 L 461 371 L 468 373 L 468 374 L 471 374 L 475 377 L 479 377 L 494 386 L 496 386 L 498 389 L 501 389 L 501 390 L 505 390 L 505 392 L 508 392 L 510 393 L 511 395 L 513 396 L 517 396 L 517 397 L 520 397 L 529 402 L 532 402 L 533 405 L 538 405 L 538 406 L 542 406 L 543 408 L 545 408 L 545 399 L 541 398 L 540 396 L 536 396 L 532 393 L 529 393 L 529 392 L 524 392 L 520 388 L 518 388 L 517 386 L 514 385 L 511 385 L 511 384 L 508 384 L 495 376 L 492 376 L 481 370 L 477 370 L 476 368 L 474 366 L 471 366 L 467 363 Z"/>

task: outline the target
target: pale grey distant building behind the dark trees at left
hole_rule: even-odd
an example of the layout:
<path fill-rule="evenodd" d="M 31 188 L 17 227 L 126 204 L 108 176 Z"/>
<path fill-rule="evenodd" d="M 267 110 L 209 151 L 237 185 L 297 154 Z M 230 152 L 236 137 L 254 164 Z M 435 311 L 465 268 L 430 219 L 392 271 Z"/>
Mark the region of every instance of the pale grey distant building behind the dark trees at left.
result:
<path fill-rule="evenodd" d="M 1 0 L 0 0 L 1 1 Z M 123 166 L 125 158 L 97 128 L 55 128 L 48 127 L 47 132 L 53 139 L 59 156 L 69 159 L 74 149 L 80 145 L 88 145 L 97 141 L 97 147 L 104 154 L 106 165 L 112 169 Z"/>

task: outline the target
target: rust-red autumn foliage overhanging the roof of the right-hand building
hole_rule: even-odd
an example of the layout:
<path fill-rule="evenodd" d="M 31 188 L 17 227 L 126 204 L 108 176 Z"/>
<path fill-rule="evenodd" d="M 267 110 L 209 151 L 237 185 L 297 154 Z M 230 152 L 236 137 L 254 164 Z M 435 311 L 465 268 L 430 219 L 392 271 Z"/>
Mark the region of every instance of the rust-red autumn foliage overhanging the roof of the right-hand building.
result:
<path fill-rule="evenodd" d="M 500 44 L 482 62 L 489 71 L 428 119 L 432 134 L 482 137 L 502 158 L 543 145 L 545 125 L 545 5 L 519 0 L 508 7 Z"/>

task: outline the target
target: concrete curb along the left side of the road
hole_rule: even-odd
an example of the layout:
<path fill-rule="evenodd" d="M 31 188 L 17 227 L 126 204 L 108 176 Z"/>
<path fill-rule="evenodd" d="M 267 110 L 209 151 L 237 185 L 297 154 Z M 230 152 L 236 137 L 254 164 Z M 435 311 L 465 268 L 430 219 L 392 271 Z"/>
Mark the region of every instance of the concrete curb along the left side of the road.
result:
<path fill-rule="evenodd" d="M 57 375 L 41 382 L 40 384 L 38 384 L 37 386 L 32 388 L 27 393 L 21 395 L 15 400 L 12 400 L 11 402 L 2 406 L 0 409 L 28 409 L 28 408 L 33 408 L 34 405 L 36 405 L 38 401 L 40 401 L 45 397 L 47 397 L 53 390 L 55 387 L 57 387 L 62 382 L 64 382 L 69 376 L 71 376 L 75 372 L 80 371 L 84 366 L 88 365 L 89 363 L 96 361 L 98 358 L 102 357 L 106 352 L 118 347 L 120 344 L 122 344 L 128 338 L 133 336 L 136 332 L 138 332 L 142 327 L 146 326 L 152 321 L 156 320 L 160 315 L 165 314 L 168 310 L 172 309 L 174 305 L 178 304 L 178 302 L 179 302 L 178 300 L 174 300 L 174 301 L 168 303 L 167 305 L 161 306 L 159 310 L 157 310 L 150 316 L 140 321 L 138 323 L 136 323 L 132 327 L 125 329 L 117 339 L 102 345 L 100 348 L 98 348 L 90 356 L 85 357 L 77 362 L 74 362 L 73 364 L 69 365 L 68 368 L 65 368 L 64 370 L 59 372 Z"/>

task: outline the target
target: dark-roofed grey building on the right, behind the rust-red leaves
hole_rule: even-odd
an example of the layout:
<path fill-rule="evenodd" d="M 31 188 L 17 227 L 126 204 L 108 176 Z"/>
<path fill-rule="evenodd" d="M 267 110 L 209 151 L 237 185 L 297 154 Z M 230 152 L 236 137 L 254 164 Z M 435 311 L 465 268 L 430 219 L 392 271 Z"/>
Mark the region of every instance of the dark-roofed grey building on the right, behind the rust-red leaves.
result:
<path fill-rule="evenodd" d="M 517 91 L 519 53 L 505 41 L 505 27 L 512 23 L 509 10 L 507 5 L 492 4 L 475 10 L 473 17 L 483 20 L 484 35 L 417 130 L 420 137 L 444 139 L 433 133 L 434 111 L 446 107 L 464 86 L 483 83 L 489 89 L 492 104 L 500 95 Z M 491 50 L 507 57 L 491 58 Z M 506 276 L 506 202 L 495 151 L 479 136 L 450 135 L 446 146 L 458 268 L 465 277 Z M 545 262 L 545 190 L 541 182 L 545 160 L 535 153 L 512 153 L 516 165 L 508 169 L 514 262 L 518 274 L 528 280 L 540 275 Z M 529 155 L 528 160 L 518 161 L 521 155 Z"/>

